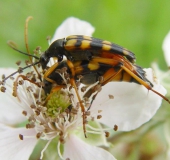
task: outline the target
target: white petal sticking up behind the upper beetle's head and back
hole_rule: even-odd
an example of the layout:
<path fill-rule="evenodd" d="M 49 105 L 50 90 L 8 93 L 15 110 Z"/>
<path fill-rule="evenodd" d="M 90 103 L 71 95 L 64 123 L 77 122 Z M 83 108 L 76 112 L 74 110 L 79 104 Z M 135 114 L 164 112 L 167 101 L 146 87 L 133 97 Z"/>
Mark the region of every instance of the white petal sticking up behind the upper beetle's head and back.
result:
<path fill-rule="evenodd" d="M 51 42 L 75 34 L 91 36 L 94 30 L 90 23 L 75 17 L 69 17 L 57 28 Z"/>

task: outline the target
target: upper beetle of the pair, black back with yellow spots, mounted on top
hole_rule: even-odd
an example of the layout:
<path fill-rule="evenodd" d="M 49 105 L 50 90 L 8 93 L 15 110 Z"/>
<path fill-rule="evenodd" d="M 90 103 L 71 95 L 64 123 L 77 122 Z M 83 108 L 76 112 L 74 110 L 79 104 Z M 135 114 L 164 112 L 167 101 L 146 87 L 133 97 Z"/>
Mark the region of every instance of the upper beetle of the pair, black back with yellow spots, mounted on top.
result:
<path fill-rule="evenodd" d="M 72 35 L 67 38 L 54 41 L 40 57 L 40 63 L 46 68 L 51 57 L 56 57 L 58 62 L 66 56 L 74 62 L 79 60 L 91 60 L 92 57 L 106 57 L 108 54 L 119 54 L 125 56 L 131 63 L 135 61 L 135 55 L 117 44 L 83 35 Z M 107 55 L 108 56 L 108 55 Z"/>

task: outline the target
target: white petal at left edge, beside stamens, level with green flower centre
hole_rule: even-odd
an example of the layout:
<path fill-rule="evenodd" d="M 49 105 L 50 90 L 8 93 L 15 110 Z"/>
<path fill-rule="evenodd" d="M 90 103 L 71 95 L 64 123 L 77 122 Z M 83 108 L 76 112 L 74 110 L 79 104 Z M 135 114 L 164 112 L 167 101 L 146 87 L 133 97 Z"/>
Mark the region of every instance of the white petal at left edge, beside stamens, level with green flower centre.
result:
<path fill-rule="evenodd" d="M 6 76 L 15 72 L 16 69 L 12 68 L 1 68 L 0 69 L 0 77 L 2 74 Z M 12 96 L 12 85 L 13 81 L 8 79 L 8 85 L 5 93 L 0 92 L 0 122 L 4 124 L 14 125 L 25 120 L 25 117 L 21 114 L 22 110 L 19 107 L 19 102 L 17 102 L 17 98 Z"/>

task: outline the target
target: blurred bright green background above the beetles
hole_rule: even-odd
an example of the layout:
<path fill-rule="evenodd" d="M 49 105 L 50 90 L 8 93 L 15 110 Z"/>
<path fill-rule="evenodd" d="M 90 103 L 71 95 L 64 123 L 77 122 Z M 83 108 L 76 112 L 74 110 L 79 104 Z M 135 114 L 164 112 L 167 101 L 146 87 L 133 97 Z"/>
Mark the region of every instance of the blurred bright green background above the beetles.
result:
<path fill-rule="evenodd" d="M 7 45 L 8 40 L 26 51 L 24 25 L 28 16 L 29 47 L 48 47 L 46 37 L 69 16 L 90 22 L 94 37 L 109 40 L 133 51 L 137 64 L 149 67 L 157 61 L 166 69 L 162 41 L 170 30 L 169 0 L 15 0 L 0 2 L 0 67 L 15 66 L 18 59 L 27 59 Z"/>

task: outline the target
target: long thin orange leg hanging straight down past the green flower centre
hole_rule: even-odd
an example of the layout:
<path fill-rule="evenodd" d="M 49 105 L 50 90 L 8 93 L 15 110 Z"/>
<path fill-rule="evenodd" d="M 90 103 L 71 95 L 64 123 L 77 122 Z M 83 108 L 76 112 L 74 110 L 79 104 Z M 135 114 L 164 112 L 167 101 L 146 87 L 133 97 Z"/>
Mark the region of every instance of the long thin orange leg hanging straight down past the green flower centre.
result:
<path fill-rule="evenodd" d="M 75 76 L 74 65 L 73 65 L 73 63 L 72 63 L 71 61 L 69 61 L 69 60 L 67 60 L 67 65 L 68 65 L 68 67 L 70 68 L 70 71 L 71 71 L 71 73 L 72 73 L 72 74 L 71 74 L 72 77 L 70 78 L 70 83 L 71 83 L 71 85 L 72 85 L 72 86 L 74 87 L 74 89 L 75 89 L 75 92 L 76 92 L 78 101 L 79 101 L 79 103 L 80 103 L 81 111 L 82 111 L 82 113 L 83 113 L 83 115 L 82 115 L 82 117 L 83 117 L 83 130 L 84 130 L 85 138 L 87 138 L 87 136 L 86 136 L 86 127 L 85 127 L 85 124 L 86 124 L 85 108 L 84 108 L 84 106 L 83 106 L 83 104 L 82 104 L 82 100 L 81 100 L 80 95 L 79 95 L 78 90 L 77 90 L 77 86 L 76 86 L 76 82 L 75 82 L 75 78 L 74 78 L 74 76 Z"/>

